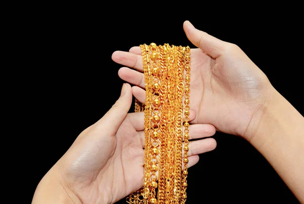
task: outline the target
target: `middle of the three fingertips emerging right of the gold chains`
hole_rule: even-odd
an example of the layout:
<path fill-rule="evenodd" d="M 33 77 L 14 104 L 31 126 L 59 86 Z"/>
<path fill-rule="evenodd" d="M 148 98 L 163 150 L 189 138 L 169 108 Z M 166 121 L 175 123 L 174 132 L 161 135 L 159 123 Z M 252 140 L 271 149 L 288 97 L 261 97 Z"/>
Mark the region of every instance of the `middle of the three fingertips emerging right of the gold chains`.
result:
<path fill-rule="evenodd" d="M 184 148 L 184 143 L 182 145 L 182 148 Z M 214 150 L 216 148 L 216 141 L 213 138 L 191 141 L 189 142 L 188 148 L 188 156 L 202 154 Z"/>

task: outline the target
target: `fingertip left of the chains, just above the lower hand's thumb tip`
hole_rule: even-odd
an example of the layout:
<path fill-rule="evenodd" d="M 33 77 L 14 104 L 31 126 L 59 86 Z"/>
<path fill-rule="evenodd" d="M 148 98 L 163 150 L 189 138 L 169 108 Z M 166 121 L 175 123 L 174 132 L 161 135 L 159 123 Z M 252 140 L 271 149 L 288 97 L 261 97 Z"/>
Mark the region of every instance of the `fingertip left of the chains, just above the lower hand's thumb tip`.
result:
<path fill-rule="evenodd" d="M 145 87 L 144 75 L 140 72 L 135 71 L 135 70 L 131 70 L 128 67 L 122 67 L 118 71 L 118 76 L 122 80 L 124 80 L 126 82 L 129 82 L 130 84 L 134 84 L 134 85 L 140 86 L 142 88 Z"/>

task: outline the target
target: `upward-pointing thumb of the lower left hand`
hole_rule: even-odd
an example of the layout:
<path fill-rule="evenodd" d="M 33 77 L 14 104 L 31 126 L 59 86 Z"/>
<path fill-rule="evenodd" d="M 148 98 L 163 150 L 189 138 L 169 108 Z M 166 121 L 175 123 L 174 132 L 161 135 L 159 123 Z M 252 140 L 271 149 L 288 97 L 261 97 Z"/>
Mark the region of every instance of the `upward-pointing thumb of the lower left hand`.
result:
<path fill-rule="evenodd" d="M 132 104 L 132 88 L 130 84 L 123 84 L 121 95 L 112 108 L 96 123 L 102 126 L 104 132 L 114 135 L 124 119 Z"/>

